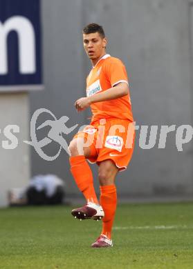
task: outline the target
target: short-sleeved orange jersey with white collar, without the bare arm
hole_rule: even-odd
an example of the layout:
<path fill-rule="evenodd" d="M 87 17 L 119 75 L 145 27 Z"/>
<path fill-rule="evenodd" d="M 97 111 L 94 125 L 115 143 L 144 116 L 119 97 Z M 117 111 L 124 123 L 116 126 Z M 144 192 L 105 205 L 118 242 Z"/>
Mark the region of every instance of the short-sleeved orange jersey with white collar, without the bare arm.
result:
<path fill-rule="evenodd" d="M 106 54 L 96 63 L 86 79 L 86 96 L 108 90 L 120 82 L 128 83 L 126 68 L 120 59 Z M 134 121 L 129 93 L 118 99 L 92 103 L 91 111 L 92 121 L 113 118 Z"/>

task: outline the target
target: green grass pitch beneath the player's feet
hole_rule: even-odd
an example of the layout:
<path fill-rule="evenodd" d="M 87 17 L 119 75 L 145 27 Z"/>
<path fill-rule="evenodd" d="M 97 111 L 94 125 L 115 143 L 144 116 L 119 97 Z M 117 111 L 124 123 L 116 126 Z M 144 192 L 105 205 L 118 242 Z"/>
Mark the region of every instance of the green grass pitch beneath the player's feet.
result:
<path fill-rule="evenodd" d="M 0 268 L 193 268 L 193 203 L 118 206 L 113 248 L 90 248 L 101 222 L 71 207 L 0 210 Z"/>

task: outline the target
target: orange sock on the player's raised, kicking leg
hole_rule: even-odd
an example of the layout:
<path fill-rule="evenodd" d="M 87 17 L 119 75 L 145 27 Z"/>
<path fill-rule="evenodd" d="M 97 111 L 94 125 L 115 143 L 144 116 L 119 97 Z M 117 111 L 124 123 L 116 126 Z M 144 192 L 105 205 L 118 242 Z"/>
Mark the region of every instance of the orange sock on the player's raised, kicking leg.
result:
<path fill-rule="evenodd" d="M 93 186 L 93 174 L 84 155 L 70 158 L 71 173 L 75 179 L 77 187 L 83 193 L 87 202 L 98 203 Z"/>

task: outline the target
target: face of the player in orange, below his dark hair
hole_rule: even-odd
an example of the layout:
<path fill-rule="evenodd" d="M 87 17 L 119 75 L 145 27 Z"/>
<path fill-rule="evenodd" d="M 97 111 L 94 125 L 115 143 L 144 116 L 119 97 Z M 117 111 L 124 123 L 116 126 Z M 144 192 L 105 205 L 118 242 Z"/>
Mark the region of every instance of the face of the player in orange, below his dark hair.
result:
<path fill-rule="evenodd" d="M 83 44 L 89 59 L 95 62 L 105 54 L 107 39 L 103 39 L 98 32 L 83 34 Z"/>

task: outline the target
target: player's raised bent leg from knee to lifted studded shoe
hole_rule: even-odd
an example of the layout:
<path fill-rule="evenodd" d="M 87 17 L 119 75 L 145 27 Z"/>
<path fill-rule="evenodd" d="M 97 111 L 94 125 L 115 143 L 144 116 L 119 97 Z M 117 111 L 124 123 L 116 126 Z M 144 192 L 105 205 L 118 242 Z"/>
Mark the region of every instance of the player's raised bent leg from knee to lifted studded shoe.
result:
<path fill-rule="evenodd" d="M 77 187 L 86 199 L 86 206 L 76 208 L 72 215 L 77 219 L 102 219 L 104 211 L 99 205 L 93 186 L 93 175 L 86 158 L 96 154 L 90 147 L 84 147 L 85 141 L 82 137 L 77 137 L 71 141 L 69 150 L 71 151 L 70 163 L 71 173 L 75 179 Z"/>

